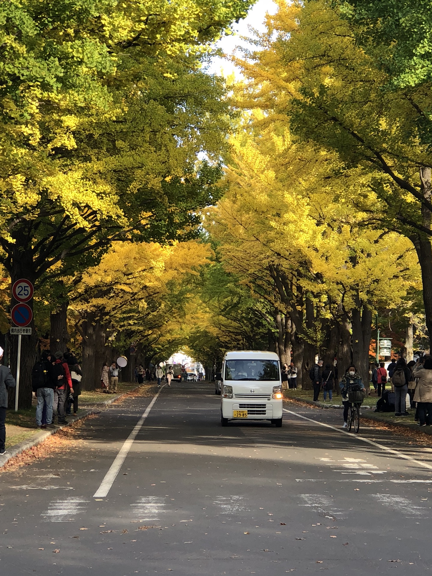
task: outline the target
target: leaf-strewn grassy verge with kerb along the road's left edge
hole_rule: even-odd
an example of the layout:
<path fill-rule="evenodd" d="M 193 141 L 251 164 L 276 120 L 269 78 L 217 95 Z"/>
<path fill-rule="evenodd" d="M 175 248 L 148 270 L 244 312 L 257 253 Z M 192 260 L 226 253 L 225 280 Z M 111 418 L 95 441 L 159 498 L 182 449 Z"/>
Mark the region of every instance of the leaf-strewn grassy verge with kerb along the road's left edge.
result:
<path fill-rule="evenodd" d="M 131 392 L 136 392 L 139 388 L 141 388 L 141 386 L 139 385 L 137 386 L 136 382 L 128 384 L 131 384 L 131 386 L 127 386 L 128 389 L 123 389 L 123 391 L 118 394 L 109 395 L 106 400 L 102 400 L 102 398 L 104 398 L 105 395 L 97 392 L 96 393 L 90 392 L 88 394 L 89 400 L 96 400 L 96 401 L 85 401 L 85 393 L 83 392 L 82 396 L 84 397 L 83 398 L 84 401 L 81 403 L 82 407 L 78 409 L 77 416 L 67 416 L 68 418 L 67 424 L 56 426 L 53 429 L 48 430 L 37 430 L 36 428 L 29 429 L 6 423 L 6 453 L 0 456 L 0 468 L 4 466 L 9 460 L 11 460 L 11 458 L 18 456 L 18 454 L 21 454 L 22 452 L 28 450 L 29 448 L 33 448 L 34 446 L 41 444 L 41 442 L 49 438 L 52 434 L 55 434 L 59 430 L 62 430 L 64 427 L 73 425 L 75 422 L 78 422 L 78 420 L 86 418 L 91 414 L 97 414 L 97 412 L 100 412 L 100 410 L 107 408 L 110 404 L 112 404 L 116 400 L 119 400 L 120 398 L 127 396 Z M 101 397 L 101 401 L 98 401 L 99 400 L 98 396 Z M 19 438 L 20 436 L 26 436 L 26 438 L 20 442 L 17 442 L 16 444 L 13 444 L 12 446 L 10 445 L 7 446 L 7 434 L 9 431 L 12 430 L 14 431 L 13 434 L 14 438 Z"/>

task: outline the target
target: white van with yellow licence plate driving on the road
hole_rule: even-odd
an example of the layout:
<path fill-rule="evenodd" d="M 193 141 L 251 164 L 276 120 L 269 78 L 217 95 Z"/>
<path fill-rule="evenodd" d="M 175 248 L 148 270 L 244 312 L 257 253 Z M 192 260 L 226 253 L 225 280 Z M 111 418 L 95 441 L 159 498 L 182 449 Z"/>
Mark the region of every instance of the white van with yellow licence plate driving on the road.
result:
<path fill-rule="evenodd" d="M 278 355 L 244 350 L 227 352 L 222 364 L 221 423 L 271 420 L 282 426 L 282 382 Z"/>

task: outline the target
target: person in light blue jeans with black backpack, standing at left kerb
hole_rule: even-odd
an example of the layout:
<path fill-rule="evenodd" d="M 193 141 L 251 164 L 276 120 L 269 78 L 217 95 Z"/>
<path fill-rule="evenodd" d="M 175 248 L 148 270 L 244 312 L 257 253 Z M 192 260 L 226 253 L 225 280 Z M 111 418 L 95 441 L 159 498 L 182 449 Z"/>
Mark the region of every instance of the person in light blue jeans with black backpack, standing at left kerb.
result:
<path fill-rule="evenodd" d="M 51 354 L 44 351 L 32 370 L 32 389 L 37 398 L 36 426 L 45 429 L 54 428 L 52 424 L 52 404 L 54 402 L 54 385 L 51 380 Z M 43 422 L 43 412 L 46 409 L 46 420 Z"/>

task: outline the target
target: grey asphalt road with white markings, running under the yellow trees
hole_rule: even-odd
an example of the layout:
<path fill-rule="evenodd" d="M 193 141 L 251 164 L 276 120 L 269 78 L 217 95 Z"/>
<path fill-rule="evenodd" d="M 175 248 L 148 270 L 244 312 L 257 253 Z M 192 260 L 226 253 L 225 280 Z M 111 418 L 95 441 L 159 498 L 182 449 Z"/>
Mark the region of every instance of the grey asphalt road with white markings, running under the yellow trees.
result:
<path fill-rule="evenodd" d="M 432 449 L 345 433 L 336 410 L 222 429 L 211 384 L 151 400 L 112 406 L 62 453 L 0 474 L 2 576 L 430 570 Z"/>

